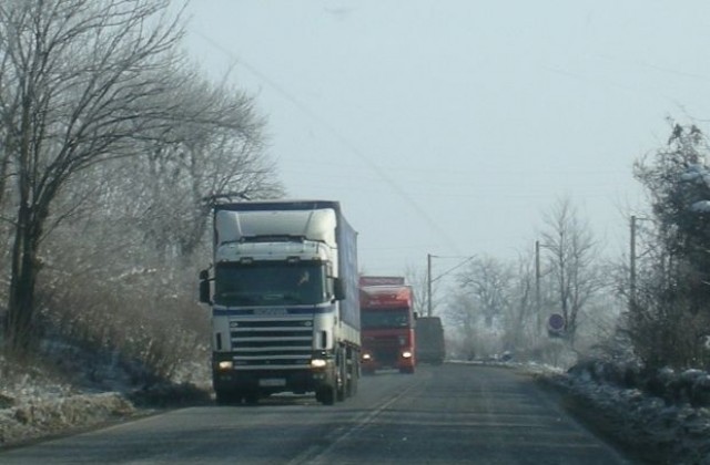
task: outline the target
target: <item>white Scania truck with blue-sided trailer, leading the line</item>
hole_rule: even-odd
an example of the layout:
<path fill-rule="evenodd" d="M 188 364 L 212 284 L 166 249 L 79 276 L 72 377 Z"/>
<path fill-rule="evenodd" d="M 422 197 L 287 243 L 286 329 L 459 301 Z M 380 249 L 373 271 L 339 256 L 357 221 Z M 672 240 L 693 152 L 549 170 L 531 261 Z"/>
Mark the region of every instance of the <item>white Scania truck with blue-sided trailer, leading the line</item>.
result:
<path fill-rule="evenodd" d="M 331 405 L 357 391 L 361 358 L 357 234 L 331 200 L 217 204 L 212 381 L 219 404 L 278 392 Z"/>

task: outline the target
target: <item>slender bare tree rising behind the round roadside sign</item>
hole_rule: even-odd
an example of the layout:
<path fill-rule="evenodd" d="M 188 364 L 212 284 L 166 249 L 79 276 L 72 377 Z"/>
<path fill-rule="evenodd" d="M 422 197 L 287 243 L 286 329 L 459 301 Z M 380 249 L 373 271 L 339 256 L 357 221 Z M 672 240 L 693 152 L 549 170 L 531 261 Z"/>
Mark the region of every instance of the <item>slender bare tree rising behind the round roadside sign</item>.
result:
<path fill-rule="evenodd" d="M 579 218 L 567 197 L 552 207 L 546 224 L 542 240 L 551 252 L 547 261 L 556 279 L 556 300 L 565 320 L 565 335 L 574 348 L 579 313 L 602 287 L 596 265 L 598 247 L 589 226 Z"/>

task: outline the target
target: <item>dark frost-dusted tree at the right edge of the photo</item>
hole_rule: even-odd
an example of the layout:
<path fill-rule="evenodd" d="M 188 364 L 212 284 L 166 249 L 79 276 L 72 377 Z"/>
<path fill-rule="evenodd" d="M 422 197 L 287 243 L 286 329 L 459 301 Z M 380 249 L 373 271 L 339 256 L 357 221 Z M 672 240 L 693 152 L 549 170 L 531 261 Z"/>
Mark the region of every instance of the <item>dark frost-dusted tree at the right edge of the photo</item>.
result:
<path fill-rule="evenodd" d="M 635 164 L 650 203 L 638 228 L 646 257 L 629 296 L 628 327 L 651 366 L 708 365 L 710 335 L 710 169 L 708 143 L 694 125 L 673 124 L 666 146 Z"/>

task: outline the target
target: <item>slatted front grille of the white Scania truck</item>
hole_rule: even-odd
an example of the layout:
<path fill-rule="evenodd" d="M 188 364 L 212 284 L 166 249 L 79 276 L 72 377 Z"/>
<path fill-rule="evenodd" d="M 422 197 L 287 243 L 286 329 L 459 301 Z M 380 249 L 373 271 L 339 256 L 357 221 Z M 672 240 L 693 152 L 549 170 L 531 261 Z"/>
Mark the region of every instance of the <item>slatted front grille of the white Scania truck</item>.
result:
<path fill-rule="evenodd" d="M 313 320 L 232 321 L 230 339 L 236 370 L 301 369 L 311 363 Z"/>

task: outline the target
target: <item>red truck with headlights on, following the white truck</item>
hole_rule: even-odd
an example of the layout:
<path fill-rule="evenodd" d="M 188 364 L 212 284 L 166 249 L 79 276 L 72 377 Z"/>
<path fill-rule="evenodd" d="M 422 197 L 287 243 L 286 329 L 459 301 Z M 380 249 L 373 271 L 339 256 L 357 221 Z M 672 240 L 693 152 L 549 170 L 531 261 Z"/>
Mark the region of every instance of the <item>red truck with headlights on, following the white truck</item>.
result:
<path fill-rule="evenodd" d="M 362 370 L 414 373 L 415 313 L 412 288 L 399 277 L 363 276 L 361 283 Z"/>

